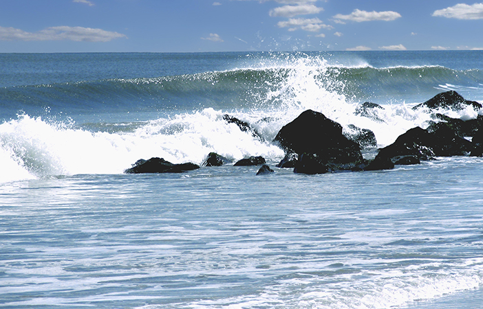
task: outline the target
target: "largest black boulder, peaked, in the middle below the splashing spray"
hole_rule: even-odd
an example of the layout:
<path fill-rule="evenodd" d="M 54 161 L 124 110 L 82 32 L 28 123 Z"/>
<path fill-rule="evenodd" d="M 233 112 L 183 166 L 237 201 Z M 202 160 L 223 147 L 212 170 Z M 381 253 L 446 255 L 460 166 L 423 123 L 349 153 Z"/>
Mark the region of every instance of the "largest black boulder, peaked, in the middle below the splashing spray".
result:
<path fill-rule="evenodd" d="M 321 163 L 361 161 L 361 148 L 342 134 L 342 126 L 322 113 L 304 111 L 283 126 L 274 141 L 286 150 L 300 155 L 314 154 Z"/>

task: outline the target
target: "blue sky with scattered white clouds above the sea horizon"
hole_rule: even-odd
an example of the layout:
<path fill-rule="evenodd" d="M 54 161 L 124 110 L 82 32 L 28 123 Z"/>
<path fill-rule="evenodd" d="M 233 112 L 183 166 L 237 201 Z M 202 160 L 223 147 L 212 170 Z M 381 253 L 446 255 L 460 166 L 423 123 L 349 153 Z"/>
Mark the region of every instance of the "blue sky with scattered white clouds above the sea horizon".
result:
<path fill-rule="evenodd" d="M 0 0 L 0 52 L 483 49 L 467 0 Z"/>

